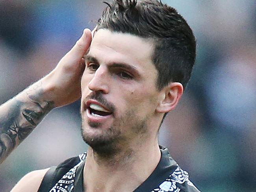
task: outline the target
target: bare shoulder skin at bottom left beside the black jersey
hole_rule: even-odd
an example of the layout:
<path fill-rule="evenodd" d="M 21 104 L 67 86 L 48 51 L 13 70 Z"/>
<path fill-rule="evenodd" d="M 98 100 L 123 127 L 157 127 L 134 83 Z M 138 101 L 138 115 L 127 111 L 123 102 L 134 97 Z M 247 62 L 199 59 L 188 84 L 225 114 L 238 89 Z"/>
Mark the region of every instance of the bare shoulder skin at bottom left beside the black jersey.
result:
<path fill-rule="evenodd" d="M 37 192 L 43 177 L 50 168 L 35 170 L 26 174 L 20 181 L 13 187 L 11 192 Z"/>

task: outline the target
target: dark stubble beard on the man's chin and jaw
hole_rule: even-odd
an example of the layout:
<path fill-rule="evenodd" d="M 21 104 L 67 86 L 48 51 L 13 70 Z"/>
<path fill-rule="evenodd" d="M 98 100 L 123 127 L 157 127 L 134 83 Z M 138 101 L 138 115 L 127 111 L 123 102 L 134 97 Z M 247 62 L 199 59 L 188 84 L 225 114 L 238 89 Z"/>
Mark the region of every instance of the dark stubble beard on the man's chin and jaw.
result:
<path fill-rule="evenodd" d="M 123 127 L 129 127 L 131 130 L 122 130 Z M 122 131 L 132 131 L 134 137 L 139 136 L 143 138 L 143 135 L 147 133 L 147 118 L 143 120 L 137 120 L 136 115 L 133 112 L 126 112 L 125 116 L 122 116 L 118 122 L 113 123 L 108 129 L 102 130 L 101 134 L 90 135 L 86 133 L 86 129 L 100 129 L 100 123 L 84 122 L 82 120 L 81 133 L 83 140 L 96 152 L 100 157 L 112 158 L 117 153 L 127 150 L 131 138 L 126 137 Z M 142 140 L 141 140 L 142 141 Z M 129 149 L 130 150 L 130 149 Z M 125 152 L 124 152 L 125 153 Z"/>

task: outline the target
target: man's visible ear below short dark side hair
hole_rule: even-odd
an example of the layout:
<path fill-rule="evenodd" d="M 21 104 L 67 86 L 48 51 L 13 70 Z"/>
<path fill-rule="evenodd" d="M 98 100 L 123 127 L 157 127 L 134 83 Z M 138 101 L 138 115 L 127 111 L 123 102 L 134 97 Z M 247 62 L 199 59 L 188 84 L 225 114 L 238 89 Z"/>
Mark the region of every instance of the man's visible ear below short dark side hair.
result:
<path fill-rule="evenodd" d="M 178 82 L 172 82 L 160 93 L 160 102 L 156 111 L 158 113 L 168 113 L 172 111 L 178 104 L 182 94 L 183 94 L 183 85 Z"/>

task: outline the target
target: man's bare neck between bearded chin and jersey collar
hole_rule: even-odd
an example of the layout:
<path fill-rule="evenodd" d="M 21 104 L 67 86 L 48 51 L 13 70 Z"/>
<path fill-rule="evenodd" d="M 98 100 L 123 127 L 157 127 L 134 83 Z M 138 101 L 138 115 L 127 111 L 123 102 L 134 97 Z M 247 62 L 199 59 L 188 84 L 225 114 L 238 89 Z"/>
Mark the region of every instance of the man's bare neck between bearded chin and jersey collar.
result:
<path fill-rule="evenodd" d="M 126 147 L 111 157 L 99 155 L 89 147 L 83 170 L 86 192 L 134 191 L 160 161 L 157 138 L 152 141 L 148 139 L 143 146 Z"/>

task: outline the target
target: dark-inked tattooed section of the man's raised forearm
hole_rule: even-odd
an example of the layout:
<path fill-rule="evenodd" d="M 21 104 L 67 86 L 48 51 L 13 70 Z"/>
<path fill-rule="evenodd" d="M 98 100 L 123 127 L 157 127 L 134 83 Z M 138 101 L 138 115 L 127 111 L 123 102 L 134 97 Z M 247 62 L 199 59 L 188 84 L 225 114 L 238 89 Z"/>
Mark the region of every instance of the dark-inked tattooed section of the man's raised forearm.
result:
<path fill-rule="evenodd" d="M 39 85 L 25 90 L 24 98 L 16 97 L 6 108 L 0 108 L 0 163 L 22 142 L 54 107 L 41 99 Z"/>

